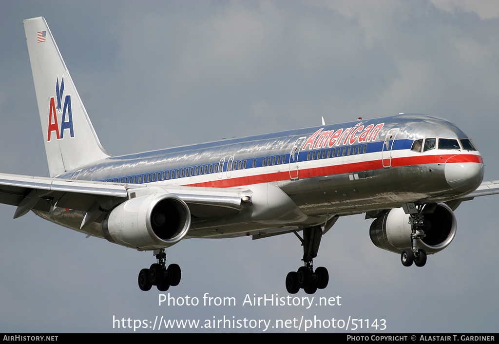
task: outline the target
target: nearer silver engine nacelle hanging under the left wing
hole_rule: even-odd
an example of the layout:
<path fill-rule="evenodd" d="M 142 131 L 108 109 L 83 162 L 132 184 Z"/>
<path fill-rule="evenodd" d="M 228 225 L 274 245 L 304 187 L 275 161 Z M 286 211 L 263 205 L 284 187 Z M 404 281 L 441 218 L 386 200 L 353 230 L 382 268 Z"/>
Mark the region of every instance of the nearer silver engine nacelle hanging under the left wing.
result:
<path fill-rule="evenodd" d="M 112 243 L 155 250 L 178 243 L 191 226 L 189 207 L 177 196 L 152 194 L 132 198 L 102 221 L 102 234 Z"/>

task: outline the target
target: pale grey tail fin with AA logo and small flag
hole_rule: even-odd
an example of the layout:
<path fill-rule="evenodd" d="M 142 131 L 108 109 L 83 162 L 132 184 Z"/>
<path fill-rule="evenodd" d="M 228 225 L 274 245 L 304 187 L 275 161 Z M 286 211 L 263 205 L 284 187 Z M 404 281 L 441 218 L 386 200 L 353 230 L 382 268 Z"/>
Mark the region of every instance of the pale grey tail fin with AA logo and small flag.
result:
<path fill-rule="evenodd" d="M 50 176 L 110 156 L 99 142 L 45 18 L 23 23 Z"/>

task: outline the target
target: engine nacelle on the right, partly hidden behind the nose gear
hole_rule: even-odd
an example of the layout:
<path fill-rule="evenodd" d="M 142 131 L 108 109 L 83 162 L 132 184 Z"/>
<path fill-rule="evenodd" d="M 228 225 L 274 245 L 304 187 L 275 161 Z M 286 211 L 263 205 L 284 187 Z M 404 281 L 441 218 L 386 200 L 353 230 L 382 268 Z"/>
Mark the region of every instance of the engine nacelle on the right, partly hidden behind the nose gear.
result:
<path fill-rule="evenodd" d="M 457 223 L 453 211 L 445 204 L 437 204 L 435 211 L 425 214 L 424 226 L 426 237 L 418 239 L 418 249 L 427 254 L 437 253 L 445 249 L 456 235 Z M 411 248 L 411 225 L 409 215 L 402 208 L 386 210 L 371 224 L 369 229 L 371 241 L 377 247 L 401 253 Z"/>

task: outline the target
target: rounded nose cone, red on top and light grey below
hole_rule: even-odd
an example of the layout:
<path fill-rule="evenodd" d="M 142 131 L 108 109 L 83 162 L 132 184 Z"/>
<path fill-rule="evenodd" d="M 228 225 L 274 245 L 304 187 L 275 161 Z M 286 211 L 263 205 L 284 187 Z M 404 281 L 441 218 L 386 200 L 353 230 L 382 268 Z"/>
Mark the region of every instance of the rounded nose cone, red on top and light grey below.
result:
<path fill-rule="evenodd" d="M 483 161 L 468 161 L 463 156 L 455 155 L 445 164 L 445 179 L 456 191 L 474 191 L 484 179 Z M 465 162 L 463 162 L 465 161 Z"/>

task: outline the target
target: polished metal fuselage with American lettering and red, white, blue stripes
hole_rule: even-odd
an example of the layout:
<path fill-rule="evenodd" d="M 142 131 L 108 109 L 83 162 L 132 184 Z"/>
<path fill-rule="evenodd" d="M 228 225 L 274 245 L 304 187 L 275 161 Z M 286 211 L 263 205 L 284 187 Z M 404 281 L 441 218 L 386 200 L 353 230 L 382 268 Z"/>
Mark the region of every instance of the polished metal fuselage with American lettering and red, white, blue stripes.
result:
<path fill-rule="evenodd" d="M 411 202 L 451 201 L 480 185 L 484 170 L 478 150 L 411 150 L 415 140 L 424 138 L 463 139 L 467 135 L 448 121 L 424 115 L 358 119 L 115 156 L 58 177 L 130 185 L 145 182 L 166 190 L 171 185 L 260 190 L 262 184 L 270 183 L 296 205 L 294 217 L 274 222 L 255 221 L 250 210 L 223 218 L 193 218 L 187 235 L 239 236 L 324 224 L 335 215 Z M 461 171 L 463 178 L 456 177 Z M 37 214 L 76 230 L 83 216 L 57 208 Z M 86 232 L 101 236 L 99 224 Z"/>

